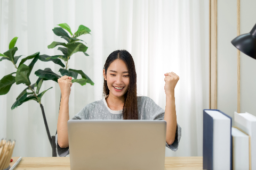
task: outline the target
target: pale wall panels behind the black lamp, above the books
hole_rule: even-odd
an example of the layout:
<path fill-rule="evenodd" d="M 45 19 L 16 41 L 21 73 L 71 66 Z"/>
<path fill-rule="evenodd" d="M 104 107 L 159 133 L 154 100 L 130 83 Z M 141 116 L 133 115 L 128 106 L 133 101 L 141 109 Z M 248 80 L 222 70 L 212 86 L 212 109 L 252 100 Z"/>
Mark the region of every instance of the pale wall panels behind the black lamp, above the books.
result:
<path fill-rule="evenodd" d="M 256 1 L 241 0 L 241 34 L 256 23 Z M 237 112 L 237 49 L 231 44 L 237 36 L 237 2 L 218 1 L 217 21 L 217 107 L 234 118 Z M 256 115 L 256 60 L 241 52 L 241 113 Z"/>

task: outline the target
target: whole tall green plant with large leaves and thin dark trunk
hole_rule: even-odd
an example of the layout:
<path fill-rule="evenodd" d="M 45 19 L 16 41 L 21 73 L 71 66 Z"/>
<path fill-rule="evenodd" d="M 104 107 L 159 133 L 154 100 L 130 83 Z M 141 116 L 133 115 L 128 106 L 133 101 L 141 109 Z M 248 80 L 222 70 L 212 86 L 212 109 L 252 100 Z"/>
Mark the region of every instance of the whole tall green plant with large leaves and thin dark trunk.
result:
<path fill-rule="evenodd" d="M 46 117 L 45 117 L 44 107 L 41 103 L 41 99 L 45 94 L 45 92 L 51 89 L 52 87 L 47 90 L 44 90 L 41 93 L 39 93 L 39 90 L 42 86 L 43 81 L 53 80 L 55 82 L 58 82 L 58 78 L 60 78 L 61 76 L 54 73 L 50 68 L 46 68 L 44 70 L 39 69 L 35 72 L 35 74 L 39 78 L 34 84 L 31 84 L 29 80 L 29 76 L 35 63 L 37 62 L 37 60 L 40 60 L 43 62 L 49 62 L 49 61 L 54 62 L 55 64 L 58 64 L 62 67 L 59 70 L 62 76 L 68 75 L 74 78 L 72 80 L 73 83 L 75 82 L 79 83 L 81 84 L 81 86 L 84 86 L 86 83 L 90 83 L 92 86 L 94 85 L 93 81 L 82 70 L 68 69 L 68 61 L 70 60 L 70 57 L 73 54 L 77 52 L 83 52 L 84 55 L 89 56 L 87 53 L 85 53 L 88 47 L 86 47 L 83 43 L 81 43 L 81 41 L 84 42 L 83 40 L 78 39 L 77 37 L 90 33 L 91 30 L 85 27 L 84 25 L 80 25 L 78 27 L 78 30 L 73 34 L 68 24 L 62 23 L 62 24 L 59 24 L 59 26 L 60 27 L 54 28 L 53 32 L 55 35 L 65 39 L 67 43 L 53 41 L 52 44 L 48 46 L 48 48 L 54 48 L 59 45 L 63 46 L 63 47 L 58 47 L 58 50 L 60 50 L 63 55 L 54 55 L 54 56 L 49 56 L 45 54 L 39 55 L 40 53 L 37 52 L 33 55 L 23 58 L 19 63 L 19 66 L 17 66 L 17 62 L 19 58 L 22 56 L 22 55 L 14 56 L 15 52 L 17 52 L 18 50 L 18 48 L 15 47 L 18 37 L 14 37 L 11 40 L 9 44 L 9 50 L 7 50 L 7 52 L 3 54 L 0 53 L 0 57 L 2 57 L 0 59 L 0 62 L 3 60 L 9 60 L 10 62 L 13 63 L 14 67 L 17 69 L 17 72 L 7 74 L 0 80 L 0 95 L 6 95 L 9 92 L 12 84 L 14 84 L 15 82 L 16 84 L 23 83 L 27 86 L 27 88 L 25 88 L 17 97 L 11 109 L 16 108 L 29 100 L 35 100 L 40 105 L 43 118 L 44 118 L 44 124 L 46 128 L 47 136 L 49 138 L 49 141 L 52 147 L 52 156 L 57 156 L 56 145 L 55 145 L 55 135 L 53 136 L 50 135 L 50 131 L 47 125 Z M 70 36 L 64 29 L 70 33 Z M 31 60 L 31 59 L 33 60 L 30 62 L 28 66 L 24 64 L 27 60 Z M 65 64 L 63 64 L 62 61 Z M 13 76 L 13 74 L 15 74 L 15 76 Z M 78 74 L 81 75 L 82 78 L 77 79 Z"/>

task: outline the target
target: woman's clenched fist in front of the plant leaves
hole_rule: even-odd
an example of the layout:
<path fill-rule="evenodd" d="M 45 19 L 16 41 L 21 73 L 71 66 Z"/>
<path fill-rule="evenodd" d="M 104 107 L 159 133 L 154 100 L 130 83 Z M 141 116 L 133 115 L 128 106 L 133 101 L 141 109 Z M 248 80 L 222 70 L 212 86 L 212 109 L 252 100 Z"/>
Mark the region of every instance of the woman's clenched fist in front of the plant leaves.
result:
<path fill-rule="evenodd" d="M 69 97 L 70 95 L 71 86 L 73 84 L 71 80 L 72 80 L 72 77 L 68 77 L 67 75 L 64 75 L 58 79 L 61 95 L 63 97 Z"/>

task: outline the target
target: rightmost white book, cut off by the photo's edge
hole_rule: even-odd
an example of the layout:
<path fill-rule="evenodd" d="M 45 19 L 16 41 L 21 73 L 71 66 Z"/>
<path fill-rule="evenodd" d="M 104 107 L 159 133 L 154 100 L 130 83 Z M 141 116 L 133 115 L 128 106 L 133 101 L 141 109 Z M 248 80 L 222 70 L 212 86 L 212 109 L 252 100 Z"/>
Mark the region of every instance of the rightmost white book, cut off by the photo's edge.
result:
<path fill-rule="evenodd" d="M 235 112 L 234 125 L 250 135 L 251 143 L 251 169 L 256 169 L 256 117 L 250 113 Z M 249 155 L 250 156 L 250 155 Z M 250 157 L 249 157 L 250 159 Z"/>

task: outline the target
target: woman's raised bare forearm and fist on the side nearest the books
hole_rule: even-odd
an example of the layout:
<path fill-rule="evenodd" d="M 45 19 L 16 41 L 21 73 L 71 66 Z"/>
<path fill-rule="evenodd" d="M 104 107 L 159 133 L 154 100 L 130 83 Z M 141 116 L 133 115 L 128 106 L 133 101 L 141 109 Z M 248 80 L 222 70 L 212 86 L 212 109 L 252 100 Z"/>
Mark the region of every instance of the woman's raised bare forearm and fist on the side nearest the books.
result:
<path fill-rule="evenodd" d="M 165 95 L 166 95 L 166 105 L 164 120 L 166 121 L 166 142 L 168 145 L 172 145 L 175 140 L 175 133 L 177 129 L 177 117 L 175 109 L 175 97 L 174 88 L 179 81 L 179 76 L 173 72 L 165 73 Z"/>

